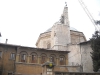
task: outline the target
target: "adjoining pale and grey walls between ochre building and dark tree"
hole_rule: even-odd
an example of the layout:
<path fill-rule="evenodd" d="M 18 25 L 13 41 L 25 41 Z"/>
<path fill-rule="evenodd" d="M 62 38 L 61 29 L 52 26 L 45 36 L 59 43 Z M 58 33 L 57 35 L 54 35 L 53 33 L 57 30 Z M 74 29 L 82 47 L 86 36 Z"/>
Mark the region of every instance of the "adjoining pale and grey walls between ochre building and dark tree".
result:
<path fill-rule="evenodd" d="M 83 72 L 93 72 L 93 63 L 90 52 L 90 42 L 83 42 L 81 44 L 71 44 L 68 46 L 70 53 L 68 54 L 69 66 L 81 65 Z"/>

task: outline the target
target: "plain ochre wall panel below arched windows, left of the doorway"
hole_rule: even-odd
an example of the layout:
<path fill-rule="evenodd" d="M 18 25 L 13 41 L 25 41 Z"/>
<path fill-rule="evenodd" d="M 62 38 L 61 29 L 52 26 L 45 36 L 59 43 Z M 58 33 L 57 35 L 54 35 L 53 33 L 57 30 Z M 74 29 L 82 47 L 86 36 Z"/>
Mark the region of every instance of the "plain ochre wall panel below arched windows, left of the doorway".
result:
<path fill-rule="evenodd" d="M 20 74 L 41 74 L 41 65 L 32 64 L 16 64 L 16 73 Z"/>

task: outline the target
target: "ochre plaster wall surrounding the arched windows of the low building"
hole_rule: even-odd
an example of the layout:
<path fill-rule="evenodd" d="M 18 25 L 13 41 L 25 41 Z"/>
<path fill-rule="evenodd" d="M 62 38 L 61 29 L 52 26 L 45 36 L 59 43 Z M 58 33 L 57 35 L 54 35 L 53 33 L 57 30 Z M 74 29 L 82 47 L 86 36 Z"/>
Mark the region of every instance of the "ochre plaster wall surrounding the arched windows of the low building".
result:
<path fill-rule="evenodd" d="M 2 58 L 0 59 L 0 70 L 2 70 L 2 74 L 0 75 L 8 75 L 8 73 L 21 73 L 21 74 L 41 74 L 43 67 L 41 62 L 41 54 L 46 54 L 47 61 L 49 61 L 50 55 L 55 55 L 55 64 L 59 66 L 59 56 L 64 55 L 67 59 L 67 53 L 45 50 L 45 49 L 37 49 L 37 48 L 27 48 L 27 47 L 16 47 L 9 45 L 0 45 L 0 51 L 2 51 Z M 20 61 L 20 53 L 27 52 L 26 62 Z M 35 52 L 38 55 L 37 63 L 31 63 L 31 53 Z M 11 60 L 11 53 L 16 54 L 16 60 Z M 65 65 L 68 63 L 65 61 Z M 59 67 L 58 67 L 59 68 Z M 55 70 L 60 70 L 55 68 Z M 67 70 L 66 70 L 67 71 Z"/>

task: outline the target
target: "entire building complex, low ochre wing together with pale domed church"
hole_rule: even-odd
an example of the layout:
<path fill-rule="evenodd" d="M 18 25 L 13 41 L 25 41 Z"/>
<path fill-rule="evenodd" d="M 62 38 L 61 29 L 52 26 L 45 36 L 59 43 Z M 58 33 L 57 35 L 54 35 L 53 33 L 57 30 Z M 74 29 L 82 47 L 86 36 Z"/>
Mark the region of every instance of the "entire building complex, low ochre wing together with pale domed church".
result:
<path fill-rule="evenodd" d="M 90 42 L 70 27 L 68 7 L 60 21 L 41 33 L 37 48 L 0 43 L 0 75 L 56 75 L 93 72 Z"/>

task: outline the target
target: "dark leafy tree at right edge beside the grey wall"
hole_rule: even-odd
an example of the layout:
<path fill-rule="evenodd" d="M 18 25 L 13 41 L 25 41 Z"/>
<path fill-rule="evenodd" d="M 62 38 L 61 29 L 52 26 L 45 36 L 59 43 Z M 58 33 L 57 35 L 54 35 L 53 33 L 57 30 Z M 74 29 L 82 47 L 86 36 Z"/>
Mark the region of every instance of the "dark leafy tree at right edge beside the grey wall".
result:
<path fill-rule="evenodd" d="M 90 39 L 91 42 L 91 58 L 93 61 L 93 71 L 97 72 L 100 69 L 100 32 L 96 31 Z"/>

